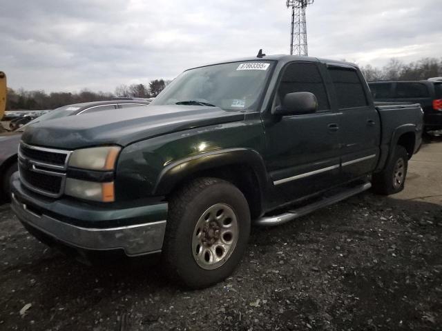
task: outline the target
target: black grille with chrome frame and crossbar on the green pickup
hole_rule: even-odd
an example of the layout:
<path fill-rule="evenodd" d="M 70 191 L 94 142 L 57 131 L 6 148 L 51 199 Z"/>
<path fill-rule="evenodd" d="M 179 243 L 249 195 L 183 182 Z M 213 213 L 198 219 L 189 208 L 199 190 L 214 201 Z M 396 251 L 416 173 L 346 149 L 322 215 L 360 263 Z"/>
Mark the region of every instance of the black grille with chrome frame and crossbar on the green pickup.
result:
<path fill-rule="evenodd" d="M 29 190 L 48 197 L 60 197 L 64 191 L 70 151 L 20 143 L 19 174 Z"/>

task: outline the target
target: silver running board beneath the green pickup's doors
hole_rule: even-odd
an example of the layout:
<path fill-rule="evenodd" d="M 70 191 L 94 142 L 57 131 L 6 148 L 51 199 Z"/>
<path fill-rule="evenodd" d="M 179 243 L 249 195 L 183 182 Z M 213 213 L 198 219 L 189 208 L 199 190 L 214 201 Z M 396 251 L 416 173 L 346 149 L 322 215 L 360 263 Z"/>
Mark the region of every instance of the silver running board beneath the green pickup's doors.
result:
<path fill-rule="evenodd" d="M 309 205 L 304 205 L 300 208 L 289 210 L 284 214 L 279 214 L 276 216 L 269 216 L 269 217 L 261 217 L 260 219 L 257 219 L 255 221 L 255 224 L 260 226 L 272 226 L 272 225 L 280 225 L 282 223 L 287 223 L 293 219 L 297 219 L 298 217 L 314 212 L 315 210 L 327 207 L 327 205 L 332 205 L 336 202 L 352 197 L 355 194 L 364 192 L 371 187 L 372 183 L 364 183 L 362 185 L 356 186 L 355 188 L 350 188 L 349 190 L 345 190 L 344 192 L 335 194 L 332 197 L 327 197 L 321 199 L 320 201 L 311 203 Z"/>

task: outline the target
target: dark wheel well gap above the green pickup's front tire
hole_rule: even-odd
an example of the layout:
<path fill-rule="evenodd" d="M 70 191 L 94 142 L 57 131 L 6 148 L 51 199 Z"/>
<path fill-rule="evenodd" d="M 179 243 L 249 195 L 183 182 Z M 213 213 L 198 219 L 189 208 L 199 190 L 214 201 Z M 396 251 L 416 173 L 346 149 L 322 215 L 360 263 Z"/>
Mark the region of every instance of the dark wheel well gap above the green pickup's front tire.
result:
<path fill-rule="evenodd" d="M 189 181 L 200 177 L 215 177 L 229 181 L 235 185 L 244 194 L 249 204 L 251 219 L 256 219 L 261 214 L 261 188 L 258 177 L 251 167 L 244 164 L 224 165 L 220 168 L 212 168 L 209 170 L 202 170 L 190 174 L 177 183 L 172 192 L 175 192 L 182 185 Z"/>

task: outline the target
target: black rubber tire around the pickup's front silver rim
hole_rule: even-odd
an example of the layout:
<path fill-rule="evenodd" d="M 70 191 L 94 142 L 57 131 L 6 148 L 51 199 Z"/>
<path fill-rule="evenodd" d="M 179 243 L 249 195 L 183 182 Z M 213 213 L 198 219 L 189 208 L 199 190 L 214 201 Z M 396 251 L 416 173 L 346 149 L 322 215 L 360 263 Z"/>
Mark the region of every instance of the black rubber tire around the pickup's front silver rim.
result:
<path fill-rule="evenodd" d="M 224 252 L 218 257 L 220 259 L 223 257 L 222 261 L 218 261 L 218 263 L 222 263 L 221 265 L 216 268 L 213 267 L 212 270 L 206 270 L 199 264 L 201 263 L 202 254 L 200 255 L 200 261 L 197 261 L 198 257 L 194 257 L 194 255 L 199 254 L 193 254 L 195 251 L 193 240 L 200 240 L 195 239 L 197 238 L 196 234 L 199 233 L 197 225 L 200 226 L 199 224 L 203 221 L 204 215 L 210 214 L 210 212 L 209 214 L 206 214 L 206 212 L 210 208 L 219 205 L 231 208 L 229 212 L 233 210 L 234 217 L 236 217 L 235 224 L 238 225 L 236 227 L 238 230 L 236 231 L 236 237 L 234 236 L 236 245 L 232 245 L 233 248 L 227 250 L 229 254 Z M 218 212 L 213 212 L 213 215 L 215 214 L 218 214 Z M 207 224 L 209 223 L 212 224 L 213 221 L 207 221 Z M 242 192 L 235 185 L 222 179 L 210 177 L 195 179 L 184 185 L 169 199 L 169 216 L 162 250 L 167 275 L 174 281 L 179 281 L 193 289 L 206 288 L 222 281 L 240 263 L 247 248 L 250 226 L 249 205 Z M 225 231 L 225 229 L 221 228 L 221 231 Z M 203 236 L 209 233 L 206 228 L 203 228 L 202 232 L 204 232 Z M 218 233 L 218 237 L 222 236 L 223 234 Z M 218 241 L 221 240 L 224 239 L 218 238 Z M 198 249 L 210 250 L 212 245 L 215 248 L 217 243 L 209 243 L 209 245 L 211 246 L 206 246 L 206 241 L 204 241 L 201 246 L 196 246 L 197 251 Z M 218 246 L 215 248 L 215 252 L 218 252 L 217 250 Z M 206 254 L 208 253 L 206 252 Z M 209 262 L 207 261 L 207 263 Z M 216 263 L 213 264 L 213 266 L 215 265 Z"/>

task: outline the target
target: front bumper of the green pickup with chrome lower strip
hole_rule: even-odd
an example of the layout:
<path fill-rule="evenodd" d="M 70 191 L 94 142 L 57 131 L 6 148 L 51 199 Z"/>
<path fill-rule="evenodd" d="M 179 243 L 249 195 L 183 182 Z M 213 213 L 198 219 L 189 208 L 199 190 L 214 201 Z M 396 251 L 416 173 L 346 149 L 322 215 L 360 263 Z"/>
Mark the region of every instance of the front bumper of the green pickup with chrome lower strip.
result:
<path fill-rule="evenodd" d="M 85 210 L 84 203 L 75 205 L 69 201 L 56 200 L 40 201 L 41 203 L 35 204 L 35 196 L 21 186 L 17 176 L 12 177 L 11 190 L 11 207 L 19 221 L 26 228 L 41 232 L 57 242 L 82 250 L 124 250 L 129 257 L 156 253 L 162 249 L 166 230 L 167 203 L 112 210 L 109 214 L 108 210 L 105 212 L 97 208 Z M 48 204 L 53 208 L 48 208 Z M 51 209 L 68 213 L 69 223 L 62 220 L 63 215 L 57 219 Z M 129 221 L 122 219 L 124 214 Z M 85 227 L 75 224 L 82 221 L 76 217 L 87 215 L 95 220 L 93 223 L 95 226 Z M 100 220 L 105 215 L 114 215 L 114 217 L 117 215 L 118 219 Z M 140 218 L 149 221 L 139 223 Z M 133 220 L 137 222 L 134 223 Z M 106 224 L 106 227 L 102 227 L 102 224 Z"/>

